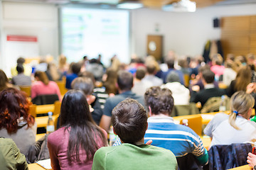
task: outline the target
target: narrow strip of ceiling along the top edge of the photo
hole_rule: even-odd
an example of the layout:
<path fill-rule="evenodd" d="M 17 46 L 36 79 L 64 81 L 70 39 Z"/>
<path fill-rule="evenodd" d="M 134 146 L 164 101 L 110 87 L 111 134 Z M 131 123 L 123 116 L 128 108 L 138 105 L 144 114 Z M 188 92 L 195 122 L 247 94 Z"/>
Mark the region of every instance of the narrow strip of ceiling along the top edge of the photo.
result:
<path fill-rule="evenodd" d="M 115 6 L 116 4 L 124 1 L 137 1 L 142 2 L 147 8 L 161 8 L 166 4 L 171 4 L 178 0 L 2 0 L 2 1 L 20 1 L 20 2 L 33 2 L 33 3 L 48 3 L 48 4 L 108 4 Z M 207 6 L 222 6 L 232 4 L 256 4 L 256 0 L 191 0 L 196 2 L 197 8 Z"/>

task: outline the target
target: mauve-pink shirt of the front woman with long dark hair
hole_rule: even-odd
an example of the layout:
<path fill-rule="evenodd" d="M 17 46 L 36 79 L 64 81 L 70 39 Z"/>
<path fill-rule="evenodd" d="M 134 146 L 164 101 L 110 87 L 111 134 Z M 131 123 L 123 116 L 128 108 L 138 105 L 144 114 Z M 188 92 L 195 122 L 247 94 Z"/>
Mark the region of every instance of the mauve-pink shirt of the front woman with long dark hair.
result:
<path fill-rule="evenodd" d="M 102 130 L 106 139 L 107 132 Z M 68 139 L 70 134 L 65 127 L 52 132 L 48 136 L 48 149 L 50 154 L 50 164 L 53 170 L 61 169 L 61 170 L 91 170 L 92 169 L 92 160 L 88 162 L 71 162 L 68 164 Z M 97 144 L 100 147 L 105 147 L 104 143 L 100 139 L 95 139 Z M 81 160 L 86 159 L 85 150 L 80 149 L 79 156 Z"/>

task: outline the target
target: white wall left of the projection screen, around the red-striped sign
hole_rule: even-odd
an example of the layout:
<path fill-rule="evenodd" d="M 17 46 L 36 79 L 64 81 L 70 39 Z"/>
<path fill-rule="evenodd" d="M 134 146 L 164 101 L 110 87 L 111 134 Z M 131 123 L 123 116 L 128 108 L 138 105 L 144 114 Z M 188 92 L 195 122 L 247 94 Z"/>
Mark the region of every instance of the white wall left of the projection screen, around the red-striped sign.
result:
<path fill-rule="evenodd" d="M 58 56 L 58 7 L 53 4 L 1 3 L 1 63 L 9 76 L 6 59 L 6 35 L 33 35 L 38 38 L 41 56 Z M 14 49 L 15 50 L 15 49 Z M 18 56 L 13 56 L 16 62 Z M 38 57 L 38 56 L 24 56 Z"/>

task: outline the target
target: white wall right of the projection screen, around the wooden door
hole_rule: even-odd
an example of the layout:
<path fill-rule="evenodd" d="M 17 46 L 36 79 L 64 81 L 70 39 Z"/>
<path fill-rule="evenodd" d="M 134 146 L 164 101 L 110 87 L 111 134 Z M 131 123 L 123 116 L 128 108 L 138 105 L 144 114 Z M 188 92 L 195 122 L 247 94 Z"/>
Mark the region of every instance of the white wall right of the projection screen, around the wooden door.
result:
<path fill-rule="evenodd" d="M 195 13 L 173 13 L 153 9 L 132 11 L 132 53 L 146 55 L 146 37 L 164 36 L 164 56 L 169 50 L 178 55 L 201 55 L 207 40 L 220 39 L 220 28 L 213 28 L 213 18 L 256 15 L 256 4 L 198 8 Z M 159 32 L 155 31 L 159 24 Z"/>

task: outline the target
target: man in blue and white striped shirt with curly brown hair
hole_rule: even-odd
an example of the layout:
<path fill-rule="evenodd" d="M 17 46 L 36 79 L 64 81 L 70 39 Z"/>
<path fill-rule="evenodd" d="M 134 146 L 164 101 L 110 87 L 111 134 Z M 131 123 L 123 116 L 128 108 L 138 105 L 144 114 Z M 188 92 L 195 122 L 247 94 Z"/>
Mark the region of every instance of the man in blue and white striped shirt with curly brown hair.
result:
<path fill-rule="evenodd" d="M 193 154 L 199 164 L 208 163 L 208 152 L 203 147 L 200 137 L 185 125 L 177 125 L 170 117 L 174 108 L 174 98 L 169 89 L 153 86 L 144 95 L 146 106 L 149 107 L 148 129 L 144 141 L 153 140 L 151 145 L 170 149 L 177 160 Z M 178 162 L 181 169 L 181 164 Z"/>

